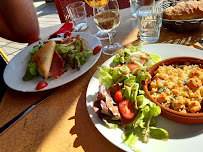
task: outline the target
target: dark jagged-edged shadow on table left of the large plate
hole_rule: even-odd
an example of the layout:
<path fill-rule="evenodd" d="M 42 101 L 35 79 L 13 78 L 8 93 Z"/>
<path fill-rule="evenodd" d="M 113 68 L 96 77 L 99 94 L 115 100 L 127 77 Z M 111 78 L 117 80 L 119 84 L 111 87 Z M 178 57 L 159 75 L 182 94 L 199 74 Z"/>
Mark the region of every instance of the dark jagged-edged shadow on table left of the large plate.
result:
<path fill-rule="evenodd" d="M 121 149 L 111 144 L 95 128 L 89 117 L 86 108 L 86 100 L 84 99 L 86 99 L 86 92 L 83 92 L 78 100 L 75 116 L 69 118 L 69 120 L 75 119 L 75 126 L 70 130 L 72 135 L 77 135 L 73 146 L 75 148 L 82 146 L 84 151 L 88 152 L 122 152 Z M 81 113 L 81 111 L 83 112 Z"/>

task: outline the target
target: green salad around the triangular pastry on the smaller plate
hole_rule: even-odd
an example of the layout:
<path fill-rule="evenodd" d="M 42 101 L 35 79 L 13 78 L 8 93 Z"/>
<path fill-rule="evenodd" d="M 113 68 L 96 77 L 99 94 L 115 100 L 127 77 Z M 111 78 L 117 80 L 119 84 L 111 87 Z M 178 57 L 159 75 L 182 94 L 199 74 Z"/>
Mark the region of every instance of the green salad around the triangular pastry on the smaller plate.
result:
<path fill-rule="evenodd" d="M 85 42 L 86 40 L 80 35 L 77 35 L 75 37 L 66 38 L 64 39 L 64 42 L 56 44 L 55 49 L 62 58 L 64 72 L 68 67 L 79 70 L 81 65 L 86 63 L 88 58 L 93 54 L 93 50 L 86 49 Z M 29 81 L 42 75 L 32 57 L 37 54 L 44 45 L 45 42 L 39 42 L 39 45 L 34 46 L 33 49 L 29 51 L 30 59 L 27 63 L 25 75 L 22 78 L 23 81 Z"/>

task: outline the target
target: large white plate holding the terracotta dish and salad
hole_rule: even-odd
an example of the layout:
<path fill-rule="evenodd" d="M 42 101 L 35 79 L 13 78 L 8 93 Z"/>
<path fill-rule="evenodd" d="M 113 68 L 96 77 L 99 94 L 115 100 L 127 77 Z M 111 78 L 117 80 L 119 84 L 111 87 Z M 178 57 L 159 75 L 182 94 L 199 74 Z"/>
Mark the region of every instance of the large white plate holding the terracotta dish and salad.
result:
<path fill-rule="evenodd" d="M 160 55 L 163 59 L 176 56 L 193 56 L 203 58 L 203 51 L 191 47 L 174 45 L 174 44 L 148 44 L 142 48 L 145 52 L 153 52 Z M 112 58 L 107 60 L 103 65 L 110 66 Z M 99 119 L 93 110 L 93 103 L 96 100 L 96 93 L 98 92 L 99 81 L 97 72 L 91 78 L 86 94 L 86 105 L 89 116 L 92 119 L 98 131 L 111 143 L 117 147 L 132 151 L 123 143 L 121 129 L 108 129 L 105 124 Z M 166 129 L 169 132 L 169 140 L 161 141 L 151 139 L 147 144 L 138 141 L 135 147 L 142 150 L 142 152 L 202 152 L 203 141 L 203 124 L 186 125 L 180 124 L 162 116 L 157 117 L 157 127 Z"/>

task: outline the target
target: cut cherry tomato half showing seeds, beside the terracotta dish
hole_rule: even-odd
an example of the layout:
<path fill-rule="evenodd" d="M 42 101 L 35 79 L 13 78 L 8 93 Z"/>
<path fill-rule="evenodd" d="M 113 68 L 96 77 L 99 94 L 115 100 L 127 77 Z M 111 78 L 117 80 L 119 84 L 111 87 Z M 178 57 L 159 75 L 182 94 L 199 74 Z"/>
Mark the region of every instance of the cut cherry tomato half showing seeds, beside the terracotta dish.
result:
<path fill-rule="evenodd" d="M 126 119 L 132 119 L 135 117 L 135 108 L 128 99 L 122 100 L 119 103 L 119 110 Z"/>

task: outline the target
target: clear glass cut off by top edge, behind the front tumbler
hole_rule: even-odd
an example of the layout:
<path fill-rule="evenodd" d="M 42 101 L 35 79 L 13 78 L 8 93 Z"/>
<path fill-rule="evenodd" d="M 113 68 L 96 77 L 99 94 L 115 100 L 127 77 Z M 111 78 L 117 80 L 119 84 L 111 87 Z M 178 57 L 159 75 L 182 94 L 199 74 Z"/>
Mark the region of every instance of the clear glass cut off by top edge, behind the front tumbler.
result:
<path fill-rule="evenodd" d="M 155 0 L 130 0 L 132 17 L 137 18 L 136 11 L 140 6 L 154 6 Z"/>

